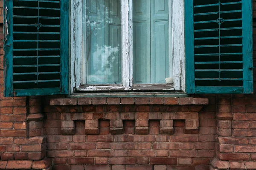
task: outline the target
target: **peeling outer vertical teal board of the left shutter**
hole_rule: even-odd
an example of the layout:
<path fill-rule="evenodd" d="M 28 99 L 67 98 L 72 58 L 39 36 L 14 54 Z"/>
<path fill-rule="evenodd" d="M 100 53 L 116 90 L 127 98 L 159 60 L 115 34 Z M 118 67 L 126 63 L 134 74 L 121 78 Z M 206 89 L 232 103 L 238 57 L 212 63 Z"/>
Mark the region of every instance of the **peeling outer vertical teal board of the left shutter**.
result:
<path fill-rule="evenodd" d="M 6 20 L 4 22 L 4 59 L 3 59 L 3 67 L 4 67 L 4 90 L 3 94 L 5 97 L 13 96 L 13 2 L 12 0 L 4 0 L 4 10 L 3 16 L 6 16 Z M 8 11 L 6 11 L 8 8 Z M 6 32 L 8 31 L 8 32 Z M 8 34 L 7 34 L 8 33 Z"/>

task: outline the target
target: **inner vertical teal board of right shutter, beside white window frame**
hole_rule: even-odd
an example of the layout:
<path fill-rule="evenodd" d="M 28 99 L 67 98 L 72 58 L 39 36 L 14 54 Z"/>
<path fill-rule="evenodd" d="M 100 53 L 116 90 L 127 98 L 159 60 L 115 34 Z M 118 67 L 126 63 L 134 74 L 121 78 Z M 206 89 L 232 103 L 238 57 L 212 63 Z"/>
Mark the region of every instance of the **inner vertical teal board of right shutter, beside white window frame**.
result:
<path fill-rule="evenodd" d="M 185 59 L 186 59 L 186 93 L 195 93 L 194 65 L 194 11 L 193 0 L 184 1 L 185 13 Z"/>

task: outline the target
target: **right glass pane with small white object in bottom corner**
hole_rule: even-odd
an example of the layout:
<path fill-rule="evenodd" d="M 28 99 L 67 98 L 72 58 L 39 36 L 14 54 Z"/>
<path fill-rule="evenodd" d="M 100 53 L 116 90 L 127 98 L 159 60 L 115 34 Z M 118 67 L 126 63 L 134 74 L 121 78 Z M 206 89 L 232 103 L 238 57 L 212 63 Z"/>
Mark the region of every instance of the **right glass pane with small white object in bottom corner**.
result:
<path fill-rule="evenodd" d="M 133 0 L 134 84 L 173 83 L 169 0 Z"/>

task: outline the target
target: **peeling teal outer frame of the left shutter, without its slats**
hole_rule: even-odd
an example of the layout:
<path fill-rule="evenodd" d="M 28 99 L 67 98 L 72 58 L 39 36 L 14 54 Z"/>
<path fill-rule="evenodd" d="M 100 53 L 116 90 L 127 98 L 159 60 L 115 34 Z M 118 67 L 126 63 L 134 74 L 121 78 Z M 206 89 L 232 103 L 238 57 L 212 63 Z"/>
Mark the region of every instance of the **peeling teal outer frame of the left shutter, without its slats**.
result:
<path fill-rule="evenodd" d="M 4 0 L 4 96 L 68 94 L 69 89 L 69 0 L 60 1 L 60 88 L 13 88 L 13 0 Z"/>

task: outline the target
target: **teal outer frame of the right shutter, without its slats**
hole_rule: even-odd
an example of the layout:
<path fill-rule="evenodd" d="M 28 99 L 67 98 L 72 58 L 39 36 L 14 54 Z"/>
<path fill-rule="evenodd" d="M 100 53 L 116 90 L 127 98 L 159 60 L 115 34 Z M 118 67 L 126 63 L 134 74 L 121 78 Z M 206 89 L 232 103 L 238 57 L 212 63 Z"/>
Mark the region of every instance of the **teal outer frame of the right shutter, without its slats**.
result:
<path fill-rule="evenodd" d="M 195 86 L 194 60 L 194 5 L 193 0 L 184 1 L 185 12 L 185 60 L 186 93 L 188 94 L 252 94 L 253 93 L 253 14 L 252 0 L 242 2 L 243 40 L 243 87 Z"/>

